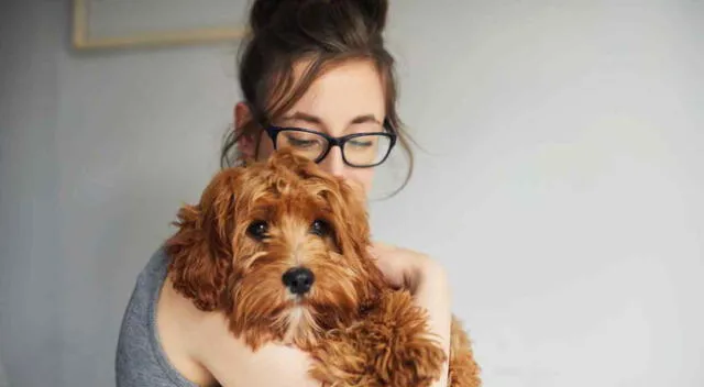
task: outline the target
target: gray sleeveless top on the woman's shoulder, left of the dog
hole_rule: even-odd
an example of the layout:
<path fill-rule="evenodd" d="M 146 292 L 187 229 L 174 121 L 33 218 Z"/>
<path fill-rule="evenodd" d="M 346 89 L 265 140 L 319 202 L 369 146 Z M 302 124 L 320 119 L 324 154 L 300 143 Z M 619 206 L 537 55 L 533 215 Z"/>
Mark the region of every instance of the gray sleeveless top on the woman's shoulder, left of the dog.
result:
<path fill-rule="evenodd" d="M 118 387 L 197 387 L 168 362 L 156 332 L 155 307 L 167 264 L 168 257 L 160 248 L 136 279 L 118 340 Z"/>

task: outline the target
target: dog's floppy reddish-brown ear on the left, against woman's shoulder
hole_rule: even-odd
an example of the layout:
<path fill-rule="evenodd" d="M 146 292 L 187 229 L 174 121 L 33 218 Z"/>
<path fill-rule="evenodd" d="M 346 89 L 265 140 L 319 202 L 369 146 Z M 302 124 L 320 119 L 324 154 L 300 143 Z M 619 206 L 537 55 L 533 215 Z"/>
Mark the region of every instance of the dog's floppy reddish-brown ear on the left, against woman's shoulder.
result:
<path fill-rule="evenodd" d="M 166 241 L 174 288 L 205 311 L 229 306 L 226 290 L 232 274 L 235 197 L 241 168 L 213 177 L 197 206 L 184 206 Z"/>

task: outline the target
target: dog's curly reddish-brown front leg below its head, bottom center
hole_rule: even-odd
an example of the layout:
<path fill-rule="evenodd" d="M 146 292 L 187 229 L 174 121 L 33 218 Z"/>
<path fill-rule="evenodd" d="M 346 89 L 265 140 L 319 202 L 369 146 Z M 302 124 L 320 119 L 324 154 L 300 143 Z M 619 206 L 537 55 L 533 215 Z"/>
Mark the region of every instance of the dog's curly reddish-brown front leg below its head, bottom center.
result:
<path fill-rule="evenodd" d="M 311 351 L 312 376 L 324 386 L 430 386 L 446 355 L 427 314 L 407 291 L 388 291 L 351 327 L 328 332 Z"/>

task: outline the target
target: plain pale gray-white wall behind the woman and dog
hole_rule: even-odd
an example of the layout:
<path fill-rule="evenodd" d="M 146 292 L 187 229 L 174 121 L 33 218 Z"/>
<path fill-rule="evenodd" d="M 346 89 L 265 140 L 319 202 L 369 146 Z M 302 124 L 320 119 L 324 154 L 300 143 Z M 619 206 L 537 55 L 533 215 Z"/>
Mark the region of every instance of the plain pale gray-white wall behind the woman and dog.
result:
<path fill-rule="evenodd" d="M 110 386 L 135 275 L 217 168 L 234 47 L 77 55 L 67 2 L 1 8 L 0 360 Z M 704 4 L 396 1 L 388 34 L 427 152 L 375 232 L 450 268 L 486 385 L 704 385 Z"/>

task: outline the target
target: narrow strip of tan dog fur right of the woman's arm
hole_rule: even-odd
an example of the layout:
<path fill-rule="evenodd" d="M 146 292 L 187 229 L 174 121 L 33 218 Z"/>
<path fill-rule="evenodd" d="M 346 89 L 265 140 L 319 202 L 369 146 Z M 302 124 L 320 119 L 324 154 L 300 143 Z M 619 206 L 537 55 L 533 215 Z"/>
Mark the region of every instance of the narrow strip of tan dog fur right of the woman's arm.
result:
<path fill-rule="evenodd" d="M 480 367 L 474 360 L 472 342 L 462 328 L 462 322 L 453 316 L 450 340 L 450 387 L 480 387 Z"/>

